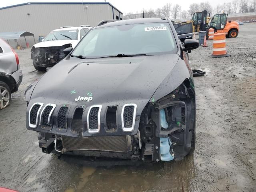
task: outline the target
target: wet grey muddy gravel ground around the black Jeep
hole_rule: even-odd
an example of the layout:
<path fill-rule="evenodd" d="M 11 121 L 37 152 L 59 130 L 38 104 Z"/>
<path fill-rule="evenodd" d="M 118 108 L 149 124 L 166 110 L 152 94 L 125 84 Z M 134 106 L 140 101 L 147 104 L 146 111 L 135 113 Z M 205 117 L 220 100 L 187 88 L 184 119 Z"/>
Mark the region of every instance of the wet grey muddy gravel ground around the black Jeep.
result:
<path fill-rule="evenodd" d="M 26 130 L 27 86 L 42 76 L 30 49 L 17 50 L 24 78 L 0 111 L 0 186 L 25 191 L 172 192 L 256 189 L 256 24 L 226 39 L 228 58 L 209 58 L 212 42 L 189 54 L 197 96 L 196 150 L 182 161 L 134 164 L 44 154 Z"/>

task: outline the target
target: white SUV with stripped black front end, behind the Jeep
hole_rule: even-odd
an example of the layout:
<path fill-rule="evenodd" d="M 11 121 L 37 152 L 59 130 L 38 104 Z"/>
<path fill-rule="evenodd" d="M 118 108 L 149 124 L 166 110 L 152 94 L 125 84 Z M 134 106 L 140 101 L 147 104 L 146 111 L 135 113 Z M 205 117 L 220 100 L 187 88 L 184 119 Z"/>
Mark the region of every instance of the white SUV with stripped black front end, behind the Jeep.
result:
<path fill-rule="evenodd" d="M 89 25 L 79 27 L 65 26 L 50 32 L 42 42 L 34 44 L 31 59 L 34 68 L 45 71 L 65 58 L 63 50 L 75 47 L 82 37 L 91 29 Z"/>

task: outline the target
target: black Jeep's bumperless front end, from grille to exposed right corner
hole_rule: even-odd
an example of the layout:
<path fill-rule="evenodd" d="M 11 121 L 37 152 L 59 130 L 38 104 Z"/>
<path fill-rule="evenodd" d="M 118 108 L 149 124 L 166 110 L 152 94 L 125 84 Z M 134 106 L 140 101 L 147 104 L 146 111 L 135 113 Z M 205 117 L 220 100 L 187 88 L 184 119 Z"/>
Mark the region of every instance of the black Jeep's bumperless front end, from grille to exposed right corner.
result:
<path fill-rule="evenodd" d="M 42 152 L 58 156 L 159 162 L 181 160 L 194 151 L 195 92 L 188 79 L 163 98 L 151 99 L 140 115 L 136 106 L 86 109 L 35 103 L 29 106 L 28 129 L 39 132 Z M 33 128 L 34 124 L 38 126 Z"/>

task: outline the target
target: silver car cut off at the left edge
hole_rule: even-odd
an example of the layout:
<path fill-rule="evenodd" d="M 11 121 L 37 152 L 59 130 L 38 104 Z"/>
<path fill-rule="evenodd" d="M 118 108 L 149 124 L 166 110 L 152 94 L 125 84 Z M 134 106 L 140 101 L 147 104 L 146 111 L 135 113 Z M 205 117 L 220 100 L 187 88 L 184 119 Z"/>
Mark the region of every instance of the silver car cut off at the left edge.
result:
<path fill-rule="evenodd" d="M 18 91 L 21 82 L 18 54 L 0 39 L 0 110 L 10 104 L 11 94 Z"/>

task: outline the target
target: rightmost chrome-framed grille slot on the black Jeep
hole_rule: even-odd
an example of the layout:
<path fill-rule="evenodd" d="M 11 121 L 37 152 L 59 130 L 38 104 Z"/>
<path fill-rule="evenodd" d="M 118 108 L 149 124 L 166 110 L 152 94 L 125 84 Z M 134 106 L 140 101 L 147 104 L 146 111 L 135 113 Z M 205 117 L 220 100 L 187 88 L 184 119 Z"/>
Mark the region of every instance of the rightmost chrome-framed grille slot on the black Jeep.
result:
<path fill-rule="evenodd" d="M 122 128 L 124 132 L 134 130 L 136 118 L 136 104 L 125 104 L 122 108 Z"/>

